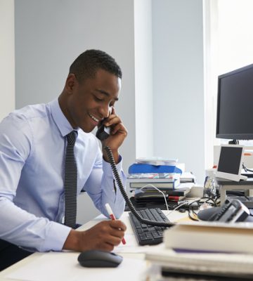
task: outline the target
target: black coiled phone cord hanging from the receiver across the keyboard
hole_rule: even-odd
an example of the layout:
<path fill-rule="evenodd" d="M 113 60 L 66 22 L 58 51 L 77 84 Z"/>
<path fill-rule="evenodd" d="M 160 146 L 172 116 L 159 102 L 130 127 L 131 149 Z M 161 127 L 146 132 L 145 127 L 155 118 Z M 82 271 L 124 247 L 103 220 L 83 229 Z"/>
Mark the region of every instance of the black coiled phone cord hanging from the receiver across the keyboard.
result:
<path fill-rule="evenodd" d="M 112 167 L 112 173 L 115 176 L 115 180 L 117 182 L 117 185 L 119 186 L 119 190 L 120 190 L 120 192 L 122 192 L 122 196 L 123 196 L 124 200 L 126 201 L 126 204 L 129 207 L 130 211 L 134 214 L 134 216 L 136 216 L 138 221 L 141 221 L 141 223 L 145 223 L 150 226 L 164 226 L 164 227 L 174 226 L 174 223 L 171 223 L 171 222 L 163 223 L 163 222 L 158 222 L 158 221 L 150 221 L 150 220 L 143 218 L 142 216 L 140 216 L 138 214 L 138 212 L 134 208 L 134 205 L 129 200 L 129 197 L 126 194 L 126 190 L 124 190 L 124 186 L 123 186 L 122 180 L 119 176 L 119 172 L 117 171 L 117 166 L 115 164 L 115 159 L 112 155 L 112 151 L 110 150 L 110 148 L 108 146 L 105 146 L 104 150 L 105 150 L 106 154 L 108 155 L 110 166 Z"/>

